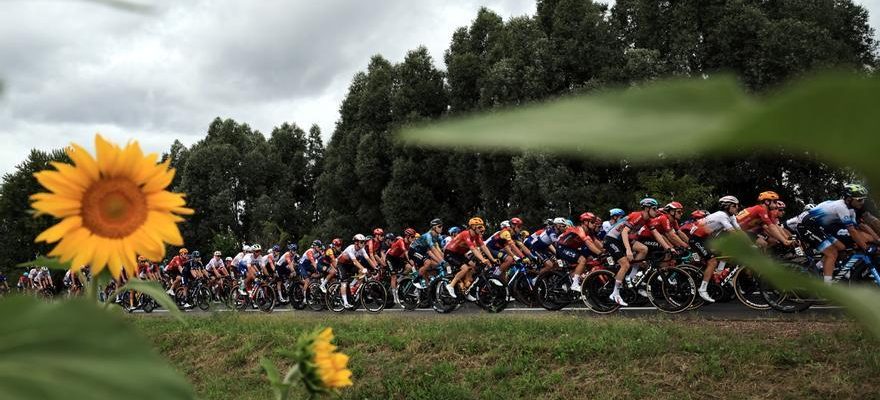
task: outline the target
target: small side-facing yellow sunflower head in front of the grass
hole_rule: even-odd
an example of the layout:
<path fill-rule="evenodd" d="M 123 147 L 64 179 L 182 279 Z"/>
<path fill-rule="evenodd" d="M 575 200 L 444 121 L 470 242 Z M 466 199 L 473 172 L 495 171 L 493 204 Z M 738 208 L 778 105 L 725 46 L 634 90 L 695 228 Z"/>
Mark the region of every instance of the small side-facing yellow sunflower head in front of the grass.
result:
<path fill-rule="evenodd" d="M 332 328 L 300 339 L 299 369 L 309 392 L 327 393 L 352 385 L 348 356 L 336 351 L 332 341 Z"/>

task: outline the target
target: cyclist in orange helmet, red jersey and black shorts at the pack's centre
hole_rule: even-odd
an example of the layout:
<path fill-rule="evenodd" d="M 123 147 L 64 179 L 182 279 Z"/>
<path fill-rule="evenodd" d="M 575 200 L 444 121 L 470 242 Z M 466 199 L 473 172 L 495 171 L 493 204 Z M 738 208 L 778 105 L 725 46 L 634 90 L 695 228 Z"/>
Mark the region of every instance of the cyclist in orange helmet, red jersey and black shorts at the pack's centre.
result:
<path fill-rule="evenodd" d="M 446 291 L 453 298 L 458 297 L 455 294 L 455 285 L 457 283 L 462 282 L 465 284 L 465 287 L 470 284 L 470 277 L 476 266 L 474 259 L 484 265 L 498 263 L 498 260 L 492 256 L 489 248 L 486 247 L 486 243 L 483 242 L 483 232 L 485 231 L 486 225 L 483 223 L 483 219 L 473 217 L 468 220 L 468 229 L 456 235 L 443 249 L 446 261 L 452 266 L 460 268 L 452 278 L 452 281 L 446 285 Z M 467 296 L 468 300 L 476 300 L 470 293 Z"/>

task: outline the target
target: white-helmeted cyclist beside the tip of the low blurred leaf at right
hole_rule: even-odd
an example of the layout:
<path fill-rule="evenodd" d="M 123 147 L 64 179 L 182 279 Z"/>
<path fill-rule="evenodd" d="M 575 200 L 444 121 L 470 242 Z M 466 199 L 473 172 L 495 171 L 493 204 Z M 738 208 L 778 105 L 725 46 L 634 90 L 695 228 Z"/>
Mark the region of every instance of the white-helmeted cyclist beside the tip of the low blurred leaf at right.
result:
<path fill-rule="evenodd" d="M 709 279 L 715 273 L 715 266 L 718 265 L 718 256 L 712 252 L 707 246 L 706 241 L 717 237 L 725 232 L 739 230 L 739 223 L 736 221 L 736 214 L 739 210 L 739 199 L 733 196 L 724 196 L 718 199 L 719 210 L 709 214 L 706 218 L 691 229 L 691 248 L 706 260 L 706 269 L 703 271 L 703 281 L 700 283 L 700 289 L 697 291 L 703 300 L 714 303 L 715 299 L 709 296 L 706 289 L 709 286 Z"/>

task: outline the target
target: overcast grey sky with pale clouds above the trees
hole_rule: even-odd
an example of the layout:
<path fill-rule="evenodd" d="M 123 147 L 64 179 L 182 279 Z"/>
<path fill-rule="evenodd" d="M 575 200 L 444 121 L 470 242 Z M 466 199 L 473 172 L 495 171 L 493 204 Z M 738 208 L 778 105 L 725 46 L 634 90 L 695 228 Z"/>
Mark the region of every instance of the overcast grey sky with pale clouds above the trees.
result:
<path fill-rule="evenodd" d="M 83 1 L 0 0 L 0 173 L 31 148 L 95 132 L 155 152 L 204 137 L 216 116 L 268 136 L 282 122 L 332 133 L 352 75 L 419 45 L 443 67 L 452 32 L 484 5 L 534 0 L 158 1 L 149 15 Z M 860 1 L 880 25 L 880 0 Z M 880 29 L 878 29 L 880 30 Z"/>

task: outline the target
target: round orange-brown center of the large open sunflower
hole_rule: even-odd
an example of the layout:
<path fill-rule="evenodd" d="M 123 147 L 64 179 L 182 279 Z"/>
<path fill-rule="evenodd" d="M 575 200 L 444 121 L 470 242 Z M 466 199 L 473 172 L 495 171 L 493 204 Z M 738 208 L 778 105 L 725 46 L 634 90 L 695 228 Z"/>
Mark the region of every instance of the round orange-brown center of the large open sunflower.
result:
<path fill-rule="evenodd" d="M 83 194 L 83 226 L 98 236 L 126 237 L 147 220 L 147 197 L 125 178 L 101 179 Z"/>

